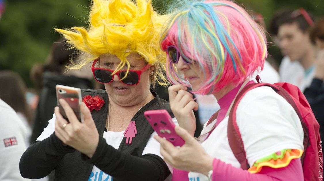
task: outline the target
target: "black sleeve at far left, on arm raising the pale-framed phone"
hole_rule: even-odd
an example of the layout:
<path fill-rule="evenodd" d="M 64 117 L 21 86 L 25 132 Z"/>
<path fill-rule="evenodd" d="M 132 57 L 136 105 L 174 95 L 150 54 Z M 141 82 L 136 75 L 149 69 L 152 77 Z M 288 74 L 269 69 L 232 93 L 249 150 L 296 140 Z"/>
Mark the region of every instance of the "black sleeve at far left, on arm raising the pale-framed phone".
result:
<path fill-rule="evenodd" d="M 55 133 L 52 133 L 50 137 L 42 141 L 35 141 L 21 156 L 20 174 L 24 178 L 43 178 L 54 170 L 65 154 L 74 151 L 74 148 L 64 146 Z"/>

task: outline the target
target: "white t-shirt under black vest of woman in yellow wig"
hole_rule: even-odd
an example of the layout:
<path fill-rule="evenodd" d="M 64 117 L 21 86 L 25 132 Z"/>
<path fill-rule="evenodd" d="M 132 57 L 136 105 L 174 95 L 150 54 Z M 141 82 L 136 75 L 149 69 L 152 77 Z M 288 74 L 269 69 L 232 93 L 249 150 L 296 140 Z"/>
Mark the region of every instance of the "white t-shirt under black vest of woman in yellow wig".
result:
<path fill-rule="evenodd" d="M 54 131 L 55 131 L 55 120 L 56 116 L 53 115 L 53 118 L 48 121 L 48 126 L 44 129 L 43 133 L 37 138 L 37 141 L 41 141 L 49 137 Z M 177 120 L 175 118 L 172 119 L 175 124 L 177 123 Z M 121 141 L 124 137 L 124 131 L 121 132 L 104 132 L 103 137 L 106 139 L 107 144 L 111 145 L 115 149 L 119 148 L 119 145 L 121 144 Z M 162 155 L 160 154 L 160 143 L 157 142 L 153 136 L 156 135 L 156 132 L 153 132 L 144 148 L 144 151 L 142 155 L 144 154 L 155 154 L 162 158 Z M 101 171 L 99 168 L 97 168 L 95 165 L 92 168 L 92 172 L 88 178 L 88 181 L 111 181 L 112 177 L 103 171 Z"/>

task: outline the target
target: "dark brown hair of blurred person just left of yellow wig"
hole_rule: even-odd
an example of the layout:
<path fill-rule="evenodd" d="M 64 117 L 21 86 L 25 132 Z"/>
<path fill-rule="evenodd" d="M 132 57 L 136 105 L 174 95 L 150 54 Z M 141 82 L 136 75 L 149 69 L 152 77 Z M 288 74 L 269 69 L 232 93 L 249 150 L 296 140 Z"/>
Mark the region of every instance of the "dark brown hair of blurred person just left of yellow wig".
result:
<path fill-rule="evenodd" d="M 45 63 L 35 64 L 30 70 L 30 79 L 33 81 L 35 88 L 41 89 L 45 71 L 62 73 L 64 66 L 68 65 L 70 60 L 74 60 L 76 54 L 76 49 L 70 49 L 64 38 L 56 40 Z"/>

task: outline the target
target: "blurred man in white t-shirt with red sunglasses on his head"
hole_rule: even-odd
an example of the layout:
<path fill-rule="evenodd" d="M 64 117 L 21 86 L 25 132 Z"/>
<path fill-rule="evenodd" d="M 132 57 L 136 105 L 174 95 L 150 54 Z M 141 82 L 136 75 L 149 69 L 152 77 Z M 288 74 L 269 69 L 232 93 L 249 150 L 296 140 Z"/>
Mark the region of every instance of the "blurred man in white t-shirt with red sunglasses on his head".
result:
<path fill-rule="evenodd" d="M 279 74 L 283 82 L 294 84 L 304 92 L 315 73 L 315 49 L 308 31 L 314 24 L 314 16 L 300 8 L 280 18 L 278 42 L 286 57 L 280 64 Z M 295 61 L 298 63 L 292 63 Z"/>

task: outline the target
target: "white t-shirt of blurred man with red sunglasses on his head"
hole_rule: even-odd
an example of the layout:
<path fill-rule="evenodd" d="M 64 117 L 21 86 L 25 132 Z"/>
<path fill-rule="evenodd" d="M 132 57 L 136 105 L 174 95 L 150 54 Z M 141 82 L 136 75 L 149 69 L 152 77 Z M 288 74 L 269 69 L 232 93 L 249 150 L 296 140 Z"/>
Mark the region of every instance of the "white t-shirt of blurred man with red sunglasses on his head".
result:
<path fill-rule="evenodd" d="M 298 61 L 291 61 L 289 57 L 284 57 L 279 66 L 281 81 L 296 85 L 302 92 L 310 86 L 315 75 L 315 69 L 309 72 Z"/>

